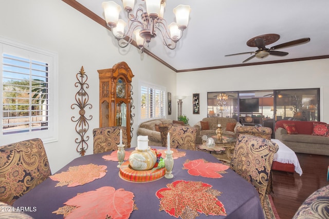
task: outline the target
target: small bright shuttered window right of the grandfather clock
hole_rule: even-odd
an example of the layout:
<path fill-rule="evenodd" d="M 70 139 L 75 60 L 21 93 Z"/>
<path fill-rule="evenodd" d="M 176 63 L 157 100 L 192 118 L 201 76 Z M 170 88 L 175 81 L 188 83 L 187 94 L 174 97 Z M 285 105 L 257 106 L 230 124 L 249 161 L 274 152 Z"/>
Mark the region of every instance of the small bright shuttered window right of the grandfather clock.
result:
<path fill-rule="evenodd" d="M 140 119 L 161 118 L 166 116 L 166 89 L 141 83 Z"/>

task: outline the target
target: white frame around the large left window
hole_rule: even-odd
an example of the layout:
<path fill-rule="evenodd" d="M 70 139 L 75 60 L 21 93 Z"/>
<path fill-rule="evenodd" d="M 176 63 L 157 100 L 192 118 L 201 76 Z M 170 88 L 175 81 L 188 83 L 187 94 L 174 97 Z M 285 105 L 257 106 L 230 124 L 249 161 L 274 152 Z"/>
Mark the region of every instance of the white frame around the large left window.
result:
<path fill-rule="evenodd" d="M 0 37 L 0 90 L 3 91 L 3 54 L 14 55 L 27 58 L 34 61 L 41 61 L 48 64 L 48 128 L 46 130 L 34 130 L 28 132 L 19 132 L 4 134 L 3 116 L 0 120 L 0 138 L 1 145 L 10 144 L 17 141 L 24 141 L 31 138 L 41 138 L 43 143 L 58 141 L 58 54 L 39 49 L 24 43 L 15 42 L 11 39 Z M 30 78 L 31 81 L 31 78 Z M 0 114 L 3 115 L 3 95 L 1 95 Z M 31 98 L 31 97 L 30 97 Z M 31 105 L 30 105 L 31 106 Z"/>

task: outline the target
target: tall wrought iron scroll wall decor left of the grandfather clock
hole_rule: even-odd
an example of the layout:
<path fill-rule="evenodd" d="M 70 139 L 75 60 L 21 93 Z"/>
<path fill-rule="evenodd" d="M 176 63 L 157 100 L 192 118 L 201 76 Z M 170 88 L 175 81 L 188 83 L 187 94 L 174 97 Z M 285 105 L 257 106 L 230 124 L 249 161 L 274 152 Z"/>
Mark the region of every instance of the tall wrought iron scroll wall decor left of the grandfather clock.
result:
<path fill-rule="evenodd" d="M 89 118 L 85 117 L 85 108 L 89 107 L 89 109 L 92 109 L 93 106 L 91 104 L 88 104 L 89 95 L 85 91 L 85 89 L 89 88 L 89 85 L 86 83 L 88 80 L 88 76 L 85 74 L 83 66 L 81 67 L 81 70 L 77 74 L 78 82 L 75 83 L 76 87 L 80 86 L 79 91 L 76 93 L 76 104 L 71 105 L 71 109 L 75 109 L 75 107 L 79 107 L 79 118 L 75 118 L 75 116 L 71 117 L 72 122 L 77 122 L 76 125 L 76 132 L 80 135 L 80 139 L 77 137 L 75 142 L 78 144 L 77 146 L 77 152 L 83 156 L 88 149 L 87 141 L 89 140 L 89 136 L 85 136 L 89 129 L 88 121 L 92 120 L 93 116 L 89 115 Z"/>

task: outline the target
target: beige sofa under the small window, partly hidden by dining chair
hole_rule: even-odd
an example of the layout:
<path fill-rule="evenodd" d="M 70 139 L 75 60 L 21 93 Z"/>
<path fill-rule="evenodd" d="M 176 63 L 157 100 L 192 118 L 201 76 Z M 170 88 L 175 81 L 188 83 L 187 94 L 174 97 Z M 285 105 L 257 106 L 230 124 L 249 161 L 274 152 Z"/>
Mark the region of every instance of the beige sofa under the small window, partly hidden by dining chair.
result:
<path fill-rule="evenodd" d="M 137 135 L 148 135 L 149 145 L 162 146 L 159 124 L 172 124 L 172 120 L 160 118 L 158 120 L 149 120 L 139 124 Z M 136 145 L 137 146 L 137 145 Z M 134 147 L 134 145 L 132 145 Z"/>

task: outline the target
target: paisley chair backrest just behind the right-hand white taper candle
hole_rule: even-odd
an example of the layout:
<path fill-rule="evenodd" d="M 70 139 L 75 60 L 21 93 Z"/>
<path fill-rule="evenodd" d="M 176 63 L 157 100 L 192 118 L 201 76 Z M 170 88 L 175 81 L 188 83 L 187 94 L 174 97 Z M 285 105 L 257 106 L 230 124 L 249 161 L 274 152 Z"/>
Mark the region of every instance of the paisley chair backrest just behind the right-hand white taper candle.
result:
<path fill-rule="evenodd" d="M 196 150 L 196 128 L 191 126 L 171 126 L 168 129 L 170 134 L 170 147 Z"/>

